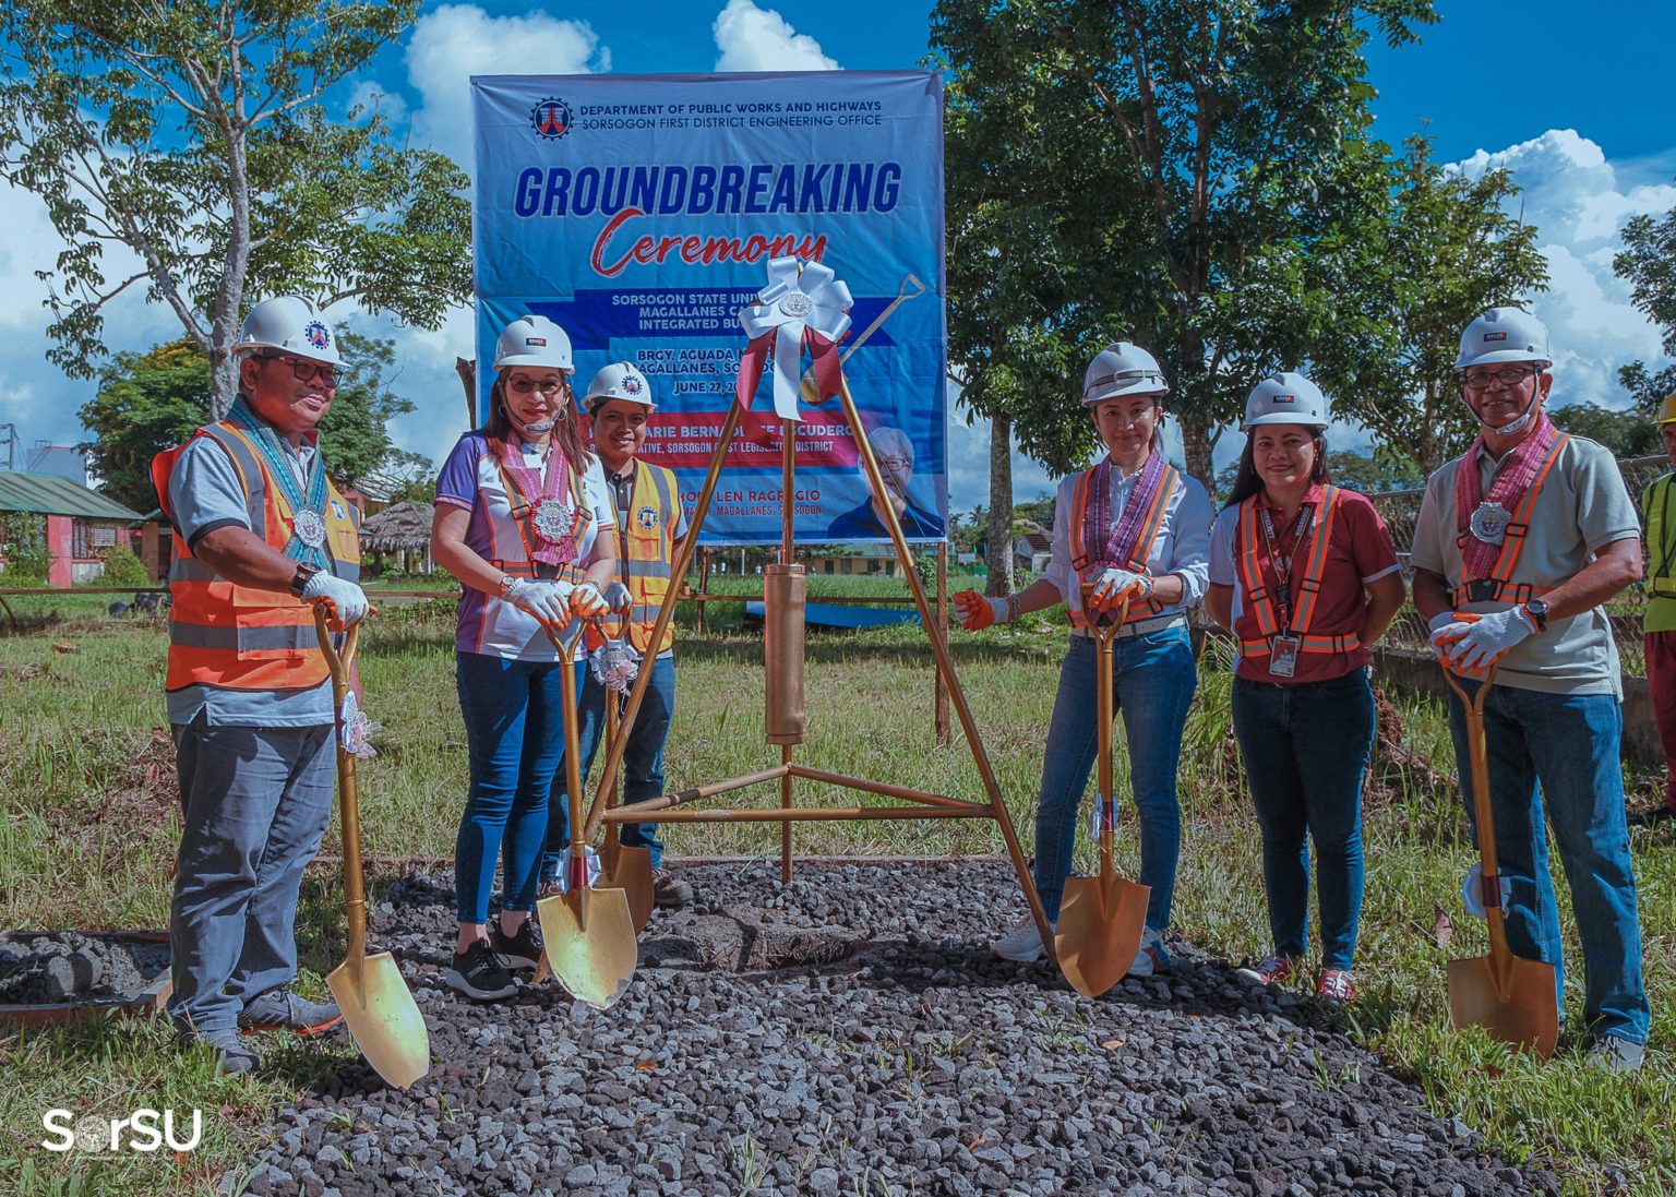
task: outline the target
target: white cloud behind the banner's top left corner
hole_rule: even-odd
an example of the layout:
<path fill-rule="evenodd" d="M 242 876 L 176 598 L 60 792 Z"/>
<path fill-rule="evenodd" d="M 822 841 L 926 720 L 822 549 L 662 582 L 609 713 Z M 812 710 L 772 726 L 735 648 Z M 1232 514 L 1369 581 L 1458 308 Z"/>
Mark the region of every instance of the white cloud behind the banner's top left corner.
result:
<path fill-rule="evenodd" d="M 414 137 L 471 169 L 471 77 L 511 65 L 543 75 L 612 69 L 612 52 L 585 20 L 491 17 L 476 5 L 442 5 L 414 23 L 407 80 L 421 96 Z"/>

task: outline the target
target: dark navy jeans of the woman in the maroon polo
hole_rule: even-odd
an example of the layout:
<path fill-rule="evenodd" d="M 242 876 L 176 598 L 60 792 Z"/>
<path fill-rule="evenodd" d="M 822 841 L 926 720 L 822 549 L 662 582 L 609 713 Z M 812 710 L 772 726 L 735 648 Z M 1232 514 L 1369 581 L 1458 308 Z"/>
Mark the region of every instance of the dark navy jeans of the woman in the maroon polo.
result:
<path fill-rule="evenodd" d="M 1368 671 L 1274 686 L 1234 679 L 1234 736 L 1262 828 L 1269 934 L 1279 956 L 1309 944 L 1309 843 L 1316 843 L 1321 964 L 1356 962 L 1361 922 L 1361 785 L 1373 751 Z"/>

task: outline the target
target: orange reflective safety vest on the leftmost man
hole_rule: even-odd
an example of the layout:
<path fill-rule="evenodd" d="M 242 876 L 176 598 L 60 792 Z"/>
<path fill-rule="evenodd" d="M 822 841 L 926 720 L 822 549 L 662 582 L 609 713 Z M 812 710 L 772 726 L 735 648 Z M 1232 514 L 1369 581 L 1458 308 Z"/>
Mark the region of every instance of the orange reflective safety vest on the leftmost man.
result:
<path fill-rule="evenodd" d="M 277 553 L 293 535 L 293 513 L 250 436 L 231 422 L 210 424 L 193 433 L 220 444 L 233 459 L 245 488 L 250 531 Z M 164 515 L 169 513 L 169 474 L 186 444 L 151 459 L 151 481 Z M 360 578 L 360 536 L 355 508 L 344 501 L 327 479 L 325 545 L 332 572 L 347 580 Z M 179 530 L 176 528 L 176 533 Z M 193 557 L 186 536 L 176 535 L 174 563 L 169 567 L 169 667 L 164 687 L 221 686 L 236 691 L 312 689 L 327 679 L 313 610 L 290 590 L 261 590 L 228 582 Z"/>

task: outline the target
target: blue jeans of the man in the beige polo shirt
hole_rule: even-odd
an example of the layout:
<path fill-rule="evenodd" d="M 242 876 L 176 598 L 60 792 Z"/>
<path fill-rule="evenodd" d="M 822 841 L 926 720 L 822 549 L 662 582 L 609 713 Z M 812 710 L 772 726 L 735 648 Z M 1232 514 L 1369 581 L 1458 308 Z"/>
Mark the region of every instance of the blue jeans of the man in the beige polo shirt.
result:
<path fill-rule="evenodd" d="M 1478 682 L 1468 681 L 1466 692 L 1477 694 Z M 1554 966 L 1564 1016 L 1565 964 L 1549 873 L 1545 813 L 1582 940 L 1584 1023 L 1599 1034 L 1646 1043 L 1651 1016 L 1641 979 L 1641 919 L 1624 825 L 1622 728 L 1622 711 L 1611 694 L 1545 694 L 1495 686 L 1483 704 L 1497 863 L 1513 892 L 1503 912 L 1507 946 L 1513 956 Z M 1466 712 L 1453 694 L 1450 733 L 1466 816 L 1477 835 Z"/>

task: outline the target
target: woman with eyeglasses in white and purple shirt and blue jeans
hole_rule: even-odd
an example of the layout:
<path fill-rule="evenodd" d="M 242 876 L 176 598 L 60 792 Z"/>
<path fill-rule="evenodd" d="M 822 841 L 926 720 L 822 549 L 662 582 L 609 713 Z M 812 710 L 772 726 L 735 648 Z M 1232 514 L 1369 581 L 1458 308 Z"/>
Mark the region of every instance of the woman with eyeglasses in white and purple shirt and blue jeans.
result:
<path fill-rule="evenodd" d="M 531 912 L 546 838 L 546 798 L 565 751 L 563 681 L 583 659 L 560 662 L 548 629 L 607 610 L 617 572 L 610 493 L 583 451 L 570 337 L 526 315 L 494 349 L 489 421 L 454 446 L 436 483 L 431 555 L 459 578 L 454 637 L 471 791 L 454 842 L 459 934 L 444 981 L 496 1001 L 518 989 L 541 947 Z M 494 860 L 501 914 L 488 922 Z"/>

